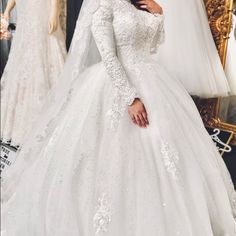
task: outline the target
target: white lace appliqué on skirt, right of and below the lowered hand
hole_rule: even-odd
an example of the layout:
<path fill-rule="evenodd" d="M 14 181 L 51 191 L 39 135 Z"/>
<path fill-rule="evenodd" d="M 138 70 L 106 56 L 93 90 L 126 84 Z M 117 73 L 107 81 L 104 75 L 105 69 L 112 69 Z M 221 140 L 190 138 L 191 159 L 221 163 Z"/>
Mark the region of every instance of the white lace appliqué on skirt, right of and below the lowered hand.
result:
<path fill-rule="evenodd" d="M 171 174 L 172 178 L 178 180 L 178 162 L 179 154 L 176 150 L 172 149 L 167 142 L 161 143 L 161 153 L 166 170 Z"/>

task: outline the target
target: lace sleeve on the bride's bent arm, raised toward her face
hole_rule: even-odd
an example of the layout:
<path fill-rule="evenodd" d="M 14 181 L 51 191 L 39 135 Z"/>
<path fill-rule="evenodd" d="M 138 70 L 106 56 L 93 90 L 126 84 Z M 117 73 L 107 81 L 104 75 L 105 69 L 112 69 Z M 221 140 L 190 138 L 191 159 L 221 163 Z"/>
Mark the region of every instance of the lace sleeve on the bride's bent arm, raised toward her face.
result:
<path fill-rule="evenodd" d="M 164 16 L 156 15 L 154 17 L 156 17 L 156 20 L 159 21 L 159 24 L 151 44 L 151 53 L 156 53 L 159 46 L 165 41 Z"/>

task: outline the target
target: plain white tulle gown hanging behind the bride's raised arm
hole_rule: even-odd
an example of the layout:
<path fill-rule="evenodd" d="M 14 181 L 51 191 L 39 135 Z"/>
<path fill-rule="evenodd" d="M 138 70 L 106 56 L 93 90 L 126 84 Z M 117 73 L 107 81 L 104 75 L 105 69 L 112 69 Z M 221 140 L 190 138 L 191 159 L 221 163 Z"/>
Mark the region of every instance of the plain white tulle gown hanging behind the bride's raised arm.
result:
<path fill-rule="evenodd" d="M 203 0 L 158 0 L 166 12 L 166 42 L 157 58 L 191 95 L 227 96 L 228 85 Z"/>

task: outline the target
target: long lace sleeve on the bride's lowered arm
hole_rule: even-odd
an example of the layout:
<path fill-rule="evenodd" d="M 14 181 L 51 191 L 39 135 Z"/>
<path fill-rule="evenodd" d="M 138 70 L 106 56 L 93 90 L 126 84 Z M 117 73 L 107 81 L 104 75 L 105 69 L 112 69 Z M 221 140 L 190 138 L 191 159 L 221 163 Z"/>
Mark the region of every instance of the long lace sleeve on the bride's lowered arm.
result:
<path fill-rule="evenodd" d="M 114 102 L 109 115 L 116 123 L 125 108 L 138 97 L 136 89 L 128 81 L 125 70 L 116 55 L 113 32 L 111 0 L 101 0 L 93 16 L 92 32 L 108 75 L 115 89 Z"/>

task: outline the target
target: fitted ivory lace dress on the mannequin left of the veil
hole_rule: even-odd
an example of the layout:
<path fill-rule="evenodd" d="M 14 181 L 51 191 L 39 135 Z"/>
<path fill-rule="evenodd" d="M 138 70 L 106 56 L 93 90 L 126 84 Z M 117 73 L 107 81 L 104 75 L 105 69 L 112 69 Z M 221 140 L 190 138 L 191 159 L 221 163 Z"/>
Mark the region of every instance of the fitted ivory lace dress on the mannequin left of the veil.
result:
<path fill-rule="evenodd" d="M 66 55 L 61 29 L 48 34 L 50 1 L 16 0 L 16 6 L 17 29 L 1 79 L 1 141 L 13 146 L 22 144 Z"/>

